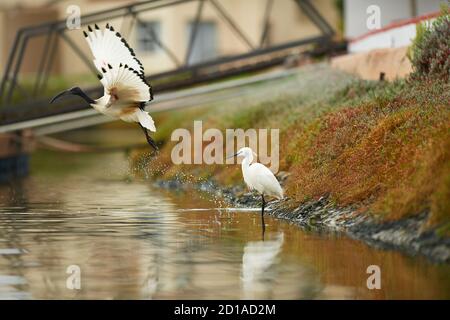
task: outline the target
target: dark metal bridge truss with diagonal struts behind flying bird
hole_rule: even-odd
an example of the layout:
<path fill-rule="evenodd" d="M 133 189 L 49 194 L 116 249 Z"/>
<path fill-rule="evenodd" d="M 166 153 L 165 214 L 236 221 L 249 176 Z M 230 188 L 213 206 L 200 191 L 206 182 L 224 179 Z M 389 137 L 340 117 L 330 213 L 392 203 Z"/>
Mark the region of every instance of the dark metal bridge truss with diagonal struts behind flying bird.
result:
<path fill-rule="evenodd" d="M 153 41 L 153 43 L 155 43 L 172 60 L 174 65 L 174 68 L 170 71 L 148 77 L 150 83 L 154 84 L 154 92 L 156 93 L 180 88 L 186 85 L 223 78 L 225 76 L 241 73 L 247 70 L 257 70 L 271 65 L 280 64 L 287 56 L 287 53 L 285 55 L 281 53 L 286 52 L 287 49 L 314 43 L 320 44 L 322 47 L 332 47 L 331 38 L 334 35 L 334 30 L 318 13 L 309 0 L 292 1 L 297 3 L 299 10 L 302 10 L 303 13 L 318 27 L 321 34 L 318 36 L 302 38 L 281 44 L 269 45 L 267 43 L 269 21 L 275 4 L 274 0 L 265 1 L 264 22 L 258 44 L 254 44 L 249 40 L 245 30 L 242 30 L 239 27 L 234 20 L 233 15 L 224 8 L 219 0 L 150 0 L 138 2 L 110 10 L 83 15 L 81 25 L 85 26 L 88 24 L 106 22 L 115 18 L 126 18 L 127 20 L 123 21 L 129 21 L 128 30 L 121 30 L 123 33 L 126 33 L 130 32 L 136 23 L 144 23 L 144 21 L 140 18 L 140 15 L 143 12 L 158 10 L 188 2 L 197 3 L 195 20 L 193 22 L 187 50 L 184 55 L 184 61 L 179 61 L 175 54 L 170 50 L 169 46 L 164 43 L 164 39 L 158 38 L 155 30 L 152 29 L 151 25 L 147 24 L 149 41 Z M 220 56 L 212 60 L 196 64 L 189 63 L 193 53 L 195 39 L 198 34 L 198 26 L 202 21 L 202 13 L 206 2 L 214 8 L 218 16 L 235 33 L 235 35 L 246 44 L 248 47 L 248 52 L 238 55 Z M 125 25 L 125 23 L 123 23 L 123 25 Z M 80 103 L 80 101 L 75 99 L 73 100 L 73 103 L 65 103 L 64 105 L 59 104 L 57 105 L 57 108 L 55 108 L 55 106 L 49 105 L 48 97 L 42 97 L 40 95 L 40 92 L 45 91 L 47 87 L 49 74 L 52 69 L 54 57 L 58 47 L 58 41 L 65 42 L 93 73 L 97 73 L 91 58 L 87 57 L 78 45 L 66 35 L 67 30 L 66 21 L 60 20 L 37 26 L 25 27 L 18 31 L 11 48 L 0 85 L 0 124 L 16 123 L 59 113 L 82 110 L 87 107 L 85 104 Z M 24 55 L 26 50 L 29 50 L 30 48 L 28 46 L 29 42 L 35 37 L 42 36 L 45 37 L 45 48 L 40 57 L 37 58 L 39 61 L 37 76 L 33 85 L 30 88 L 25 88 L 19 83 L 19 75 L 24 61 Z M 280 54 L 277 55 L 277 53 Z M 254 61 L 253 63 L 245 62 L 249 59 L 263 56 L 270 56 L 270 59 L 257 59 L 258 61 L 256 63 Z M 239 63 L 238 68 L 223 67 L 224 65 L 232 65 L 235 62 L 242 63 Z M 164 79 L 171 79 L 171 81 L 164 81 Z M 102 89 L 100 87 L 90 88 L 86 91 L 89 94 L 102 93 Z M 14 93 L 21 96 L 22 102 L 19 104 L 14 104 L 12 101 Z"/>

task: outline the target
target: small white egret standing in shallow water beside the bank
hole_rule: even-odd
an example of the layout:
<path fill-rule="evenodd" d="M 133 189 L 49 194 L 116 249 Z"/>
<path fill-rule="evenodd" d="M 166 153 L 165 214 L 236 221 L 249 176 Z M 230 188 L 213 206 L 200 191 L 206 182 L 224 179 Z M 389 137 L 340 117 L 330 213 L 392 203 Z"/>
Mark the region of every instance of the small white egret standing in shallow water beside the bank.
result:
<path fill-rule="evenodd" d="M 253 155 L 256 153 L 248 147 L 239 149 L 239 151 L 231 157 L 244 157 L 242 160 L 242 175 L 244 181 L 250 190 L 256 190 L 261 195 L 262 207 L 261 207 L 261 221 L 263 227 L 263 236 L 266 229 L 264 223 L 264 207 L 266 206 L 266 199 L 264 196 L 271 196 L 277 199 L 283 198 L 283 189 L 280 186 L 275 175 L 269 168 L 261 163 L 252 163 Z"/>

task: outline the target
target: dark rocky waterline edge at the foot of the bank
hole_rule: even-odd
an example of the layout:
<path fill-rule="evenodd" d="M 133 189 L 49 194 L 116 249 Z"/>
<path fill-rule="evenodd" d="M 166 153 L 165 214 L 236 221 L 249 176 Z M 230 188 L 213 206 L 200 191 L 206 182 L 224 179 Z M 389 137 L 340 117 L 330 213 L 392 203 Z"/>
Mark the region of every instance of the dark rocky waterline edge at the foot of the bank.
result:
<path fill-rule="evenodd" d="M 226 188 L 212 180 L 183 183 L 179 180 L 156 180 L 159 188 L 168 190 L 195 189 L 221 198 L 236 207 L 259 207 L 260 197 L 236 186 Z M 436 230 L 426 229 L 429 212 L 408 218 L 378 222 L 356 208 L 341 208 L 326 197 L 304 203 L 290 198 L 273 200 L 267 204 L 266 215 L 286 220 L 299 227 L 320 232 L 339 232 L 369 246 L 383 250 L 396 250 L 409 256 L 422 255 L 433 263 L 450 263 L 450 238 L 437 235 Z"/>

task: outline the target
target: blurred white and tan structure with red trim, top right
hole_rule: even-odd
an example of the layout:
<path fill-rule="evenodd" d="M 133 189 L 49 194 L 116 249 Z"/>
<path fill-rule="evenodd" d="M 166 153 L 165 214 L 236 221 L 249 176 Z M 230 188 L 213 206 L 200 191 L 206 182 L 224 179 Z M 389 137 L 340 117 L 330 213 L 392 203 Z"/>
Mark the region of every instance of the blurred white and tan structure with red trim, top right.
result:
<path fill-rule="evenodd" d="M 347 55 L 331 66 L 368 80 L 394 80 L 412 71 L 408 48 L 417 24 L 440 14 L 444 0 L 344 0 Z"/>

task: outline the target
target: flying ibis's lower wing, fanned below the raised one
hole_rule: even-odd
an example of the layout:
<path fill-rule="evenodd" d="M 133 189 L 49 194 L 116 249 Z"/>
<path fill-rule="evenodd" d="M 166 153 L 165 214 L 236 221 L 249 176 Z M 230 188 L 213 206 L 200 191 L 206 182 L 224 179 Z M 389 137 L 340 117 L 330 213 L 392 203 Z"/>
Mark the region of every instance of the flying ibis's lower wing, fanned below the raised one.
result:
<path fill-rule="evenodd" d="M 153 99 L 152 88 L 144 75 L 128 65 L 108 65 L 100 71 L 100 82 L 105 88 L 105 95 L 110 96 L 111 104 L 126 105 Z"/>

